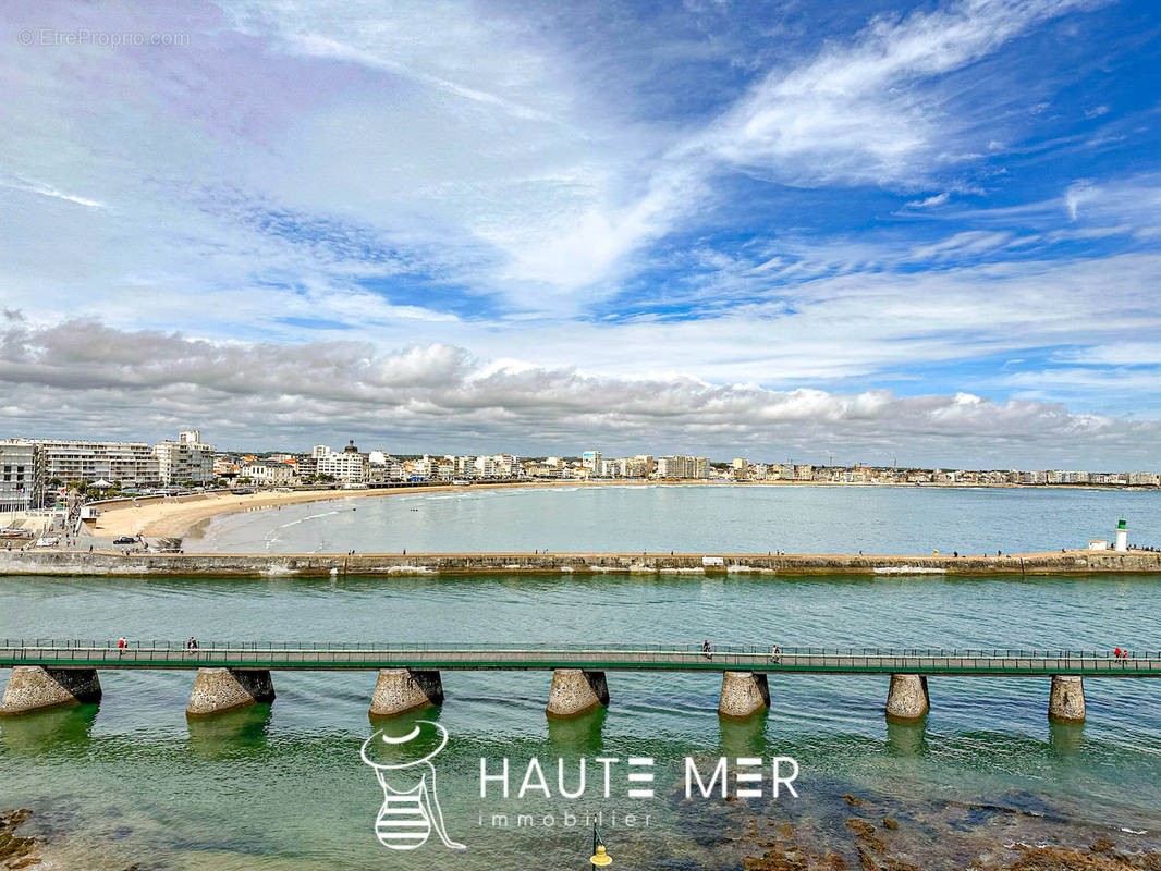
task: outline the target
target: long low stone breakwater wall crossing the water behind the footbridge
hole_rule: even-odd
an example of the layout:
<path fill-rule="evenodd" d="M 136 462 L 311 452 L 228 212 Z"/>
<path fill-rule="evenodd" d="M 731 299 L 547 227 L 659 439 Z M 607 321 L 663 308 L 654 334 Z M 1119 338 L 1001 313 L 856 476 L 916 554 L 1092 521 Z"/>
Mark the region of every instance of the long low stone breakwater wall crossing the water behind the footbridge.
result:
<path fill-rule="evenodd" d="M 614 571 L 700 575 L 1161 574 L 1161 553 L 1069 550 L 1003 557 L 766 554 L 115 554 L 0 550 L 0 575 L 271 577 Z"/>

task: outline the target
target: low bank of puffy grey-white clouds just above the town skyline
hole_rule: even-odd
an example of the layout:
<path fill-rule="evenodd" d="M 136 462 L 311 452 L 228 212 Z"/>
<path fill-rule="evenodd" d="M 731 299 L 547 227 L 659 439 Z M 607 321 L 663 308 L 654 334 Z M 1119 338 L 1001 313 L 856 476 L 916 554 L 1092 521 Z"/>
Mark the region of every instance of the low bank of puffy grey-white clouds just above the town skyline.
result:
<path fill-rule="evenodd" d="M 773 390 L 680 374 L 488 362 L 439 345 L 380 354 L 361 343 L 211 343 L 94 322 L 13 324 L 0 333 L 0 404 L 22 409 L 10 434 L 159 438 L 193 415 L 231 445 L 302 446 L 341 431 L 397 451 L 548 451 L 599 439 L 625 449 L 724 453 L 809 451 L 823 439 L 880 452 L 906 441 L 916 455 L 944 452 L 957 463 L 1011 462 L 1062 445 L 1073 455 L 1116 449 L 1155 462 L 1142 445 L 1161 434 L 1155 420 L 968 393 Z"/>

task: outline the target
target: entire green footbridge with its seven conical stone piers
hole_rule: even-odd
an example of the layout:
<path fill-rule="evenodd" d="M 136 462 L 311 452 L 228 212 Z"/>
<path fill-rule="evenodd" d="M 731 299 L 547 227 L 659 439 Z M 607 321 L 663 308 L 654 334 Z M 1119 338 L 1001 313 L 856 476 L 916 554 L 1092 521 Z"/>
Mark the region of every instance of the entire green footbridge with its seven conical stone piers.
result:
<path fill-rule="evenodd" d="M 12 667 L 0 714 L 19 714 L 101 696 L 99 669 L 197 671 L 194 717 L 271 701 L 276 670 L 377 670 L 370 713 L 390 717 L 444 703 L 441 671 L 550 670 L 549 717 L 608 704 L 606 671 L 709 671 L 722 675 L 719 712 L 749 717 L 770 705 L 769 676 L 889 675 L 886 714 L 921 720 L 929 676 L 1051 677 L 1048 715 L 1082 721 L 1084 677 L 1161 677 L 1161 652 L 820 648 L 722 645 L 455 645 L 327 641 L 2 639 L 0 668 Z"/>

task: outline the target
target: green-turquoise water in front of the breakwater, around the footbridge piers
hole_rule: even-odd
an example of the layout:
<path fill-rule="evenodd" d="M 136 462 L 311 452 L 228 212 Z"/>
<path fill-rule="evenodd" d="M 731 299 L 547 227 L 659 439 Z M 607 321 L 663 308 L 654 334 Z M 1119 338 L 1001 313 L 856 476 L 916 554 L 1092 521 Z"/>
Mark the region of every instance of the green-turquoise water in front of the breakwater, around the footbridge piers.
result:
<path fill-rule="evenodd" d="M 1111 505 L 1099 508 L 1103 516 Z M 1156 649 L 1159 616 L 1161 584 L 1145 576 L 7 577 L 0 585 L 0 635 L 178 640 Z M 99 707 L 0 720 L 0 806 L 33 807 L 50 843 L 82 857 L 72 868 L 583 868 L 589 829 L 563 821 L 597 811 L 614 868 L 737 868 L 747 852 L 738 836 L 753 819 L 788 819 L 839 840 L 849 792 L 925 833 L 925 868 L 968 864 L 972 837 L 1037 840 L 1045 826 L 1079 843 L 1095 833 L 1133 837 L 1123 828 L 1146 840 L 1161 832 L 1161 684 L 1146 679 L 1088 681 L 1088 722 L 1061 728 L 1046 721 L 1046 678 L 932 678 L 926 726 L 908 728 L 885 724 L 880 677 L 772 681 L 769 715 L 734 724 L 715 713 L 713 676 L 611 672 L 606 712 L 557 724 L 543 713 L 548 672 L 447 672 L 447 701 L 425 717 L 450 734 L 439 797 L 448 833 L 468 849 L 433 840 L 411 854 L 374 837 L 381 793 L 358 756 L 374 728 L 374 672 L 275 672 L 273 705 L 208 721 L 185 718 L 192 672 L 104 671 L 101 681 Z M 481 756 L 493 764 L 507 756 L 519 776 L 533 756 L 574 764 L 599 754 L 654 757 L 658 797 L 479 798 Z M 682 800 L 684 757 L 721 754 L 795 757 L 801 798 Z M 649 814 L 649 825 L 612 822 L 626 812 L 639 823 Z M 560 825 L 479 825 L 496 813 L 551 813 Z"/>

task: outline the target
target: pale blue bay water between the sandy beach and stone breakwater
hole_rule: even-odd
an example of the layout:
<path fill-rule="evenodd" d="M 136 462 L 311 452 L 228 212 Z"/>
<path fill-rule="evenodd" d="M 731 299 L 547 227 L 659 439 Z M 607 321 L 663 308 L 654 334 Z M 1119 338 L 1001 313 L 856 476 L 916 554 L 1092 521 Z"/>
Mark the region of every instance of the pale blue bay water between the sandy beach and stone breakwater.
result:
<path fill-rule="evenodd" d="M 982 554 L 1161 546 L 1161 490 L 560 487 L 405 492 L 214 519 L 187 550 L 678 550 Z"/>

